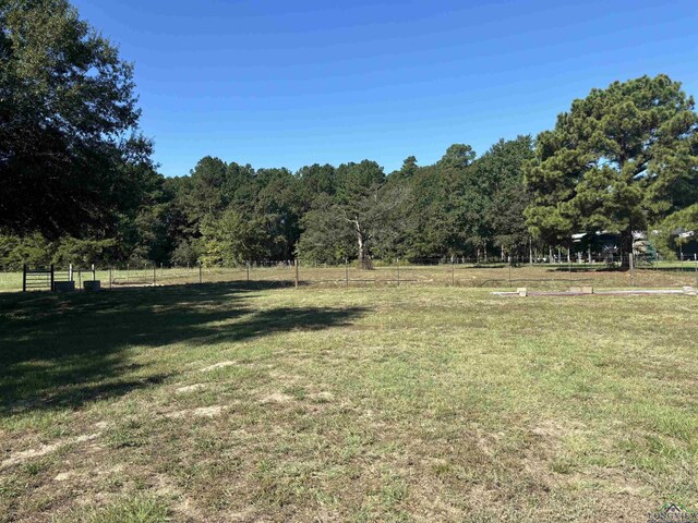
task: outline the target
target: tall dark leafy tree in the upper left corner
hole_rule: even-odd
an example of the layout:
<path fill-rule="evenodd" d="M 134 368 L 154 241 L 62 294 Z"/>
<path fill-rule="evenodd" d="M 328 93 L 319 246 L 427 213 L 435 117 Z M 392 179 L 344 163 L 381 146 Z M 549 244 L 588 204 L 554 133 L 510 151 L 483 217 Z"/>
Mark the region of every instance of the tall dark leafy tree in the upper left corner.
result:
<path fill-rule="evenodd" d="M 67 0 L 0 2 L 1 228 L 113 226 L 151 165 L 133 89 L 132 65 Z"/>

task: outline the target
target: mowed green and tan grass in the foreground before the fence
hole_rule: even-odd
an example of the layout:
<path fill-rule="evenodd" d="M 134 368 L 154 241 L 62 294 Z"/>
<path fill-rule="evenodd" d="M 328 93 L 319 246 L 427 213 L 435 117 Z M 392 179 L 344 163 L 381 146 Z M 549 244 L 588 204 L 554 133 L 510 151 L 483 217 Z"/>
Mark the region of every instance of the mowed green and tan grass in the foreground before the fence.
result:
<path fill-rule="evenodd" d="M 0 521 L 645 521 L 698 508 L 698 299 L 0 296 Z"/>

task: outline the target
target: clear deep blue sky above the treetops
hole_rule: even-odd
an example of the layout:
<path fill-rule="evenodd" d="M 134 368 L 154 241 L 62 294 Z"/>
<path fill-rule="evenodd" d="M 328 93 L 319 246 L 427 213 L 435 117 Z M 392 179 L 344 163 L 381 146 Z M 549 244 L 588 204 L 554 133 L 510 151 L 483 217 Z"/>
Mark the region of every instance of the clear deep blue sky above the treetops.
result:
<path fill-rule="evenodd" d="M 592 87 L 698 96 L 698 1 L 73 0 L 135 62 L 166 175 L 205 156 L 296 170 L 538 132 Z"/>

